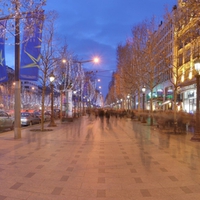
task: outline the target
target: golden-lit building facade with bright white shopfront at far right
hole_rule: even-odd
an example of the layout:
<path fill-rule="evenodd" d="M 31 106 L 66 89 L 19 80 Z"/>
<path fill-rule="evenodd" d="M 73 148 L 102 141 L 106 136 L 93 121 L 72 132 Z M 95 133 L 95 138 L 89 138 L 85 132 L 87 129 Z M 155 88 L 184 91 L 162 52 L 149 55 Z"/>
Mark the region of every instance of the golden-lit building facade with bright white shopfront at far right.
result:
<path fill-rule="evenodd" d="M 179 74 L 179 93 L 182 101 L 182 110 L 194 113 L 196 111 L 196 74 L 194 62 L 200 58 L 200 4 L 193 1 L 178 1 L 174 16 L 179 16 L 175 22 L 175 60 Z M 195 5 L 197 4 L 197 5 Z"/>

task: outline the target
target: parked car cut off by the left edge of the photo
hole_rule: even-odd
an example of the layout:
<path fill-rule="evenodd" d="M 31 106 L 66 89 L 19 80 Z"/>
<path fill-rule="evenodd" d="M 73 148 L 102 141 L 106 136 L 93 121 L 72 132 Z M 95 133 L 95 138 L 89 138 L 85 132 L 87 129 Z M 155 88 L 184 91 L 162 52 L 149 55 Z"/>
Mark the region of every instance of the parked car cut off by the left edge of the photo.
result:
<path fill-rule="evenodd" d="M 11 117 L 7 112 L 0 111 L 0 130 L 14 128 L 14 118 Z"/>

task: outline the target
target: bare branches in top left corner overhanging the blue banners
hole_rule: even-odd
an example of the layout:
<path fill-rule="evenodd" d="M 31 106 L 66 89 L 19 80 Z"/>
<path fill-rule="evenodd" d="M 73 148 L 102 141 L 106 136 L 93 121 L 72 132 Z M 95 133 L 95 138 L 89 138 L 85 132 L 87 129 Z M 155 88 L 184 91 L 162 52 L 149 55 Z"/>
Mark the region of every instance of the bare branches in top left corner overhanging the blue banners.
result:
<path fill-rule="evenodd" d="M 34 34 L 34 25 L 40 23 L 43 20 L 43 16 L 40 12 L 43 11 L 43 6 L 46 5 L 46 0 L 1 0 L 0 1 L 0 20 L 7 20 L 7 25 L 5 27 L 5 32 L 7 33 L 8 45 L 12 44 L 13 38 L 16 34 L 21 34 L 21 28 L 25 28 L 29 33 L 28 36 Z M 31 15 L 30 15 L 31 14 Z M 30 20 L 27 20 L 30 18 Z M 16 26 L 19 25 L 20 29 L 16 33 Z M 4 34 L 2 32 L 0 34 Z M 26 41 L 21 41 L 21 43 Z"/>

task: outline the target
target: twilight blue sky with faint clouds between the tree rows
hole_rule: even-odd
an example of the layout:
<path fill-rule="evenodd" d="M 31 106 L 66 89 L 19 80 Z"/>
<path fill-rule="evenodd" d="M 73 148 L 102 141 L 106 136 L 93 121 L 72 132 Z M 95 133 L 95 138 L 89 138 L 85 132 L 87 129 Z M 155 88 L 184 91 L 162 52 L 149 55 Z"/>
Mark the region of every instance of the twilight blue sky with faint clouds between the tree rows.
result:
<path fill-rule="evenodd" d="M 55 10 L 56 34 L 80 60 L 99 56 L 95 66 L 85 63 L 84 68 L 98 70 L 104 97 L 112 72 L 116 69 L 116 49 L 131 36 L 131 29 L 153 15 L 162 20 L 165 7 L 172 10 L 177 0 L 47 0 L 45 10 Z M 8 63 L 9 64 L 9 63 Z"/>

